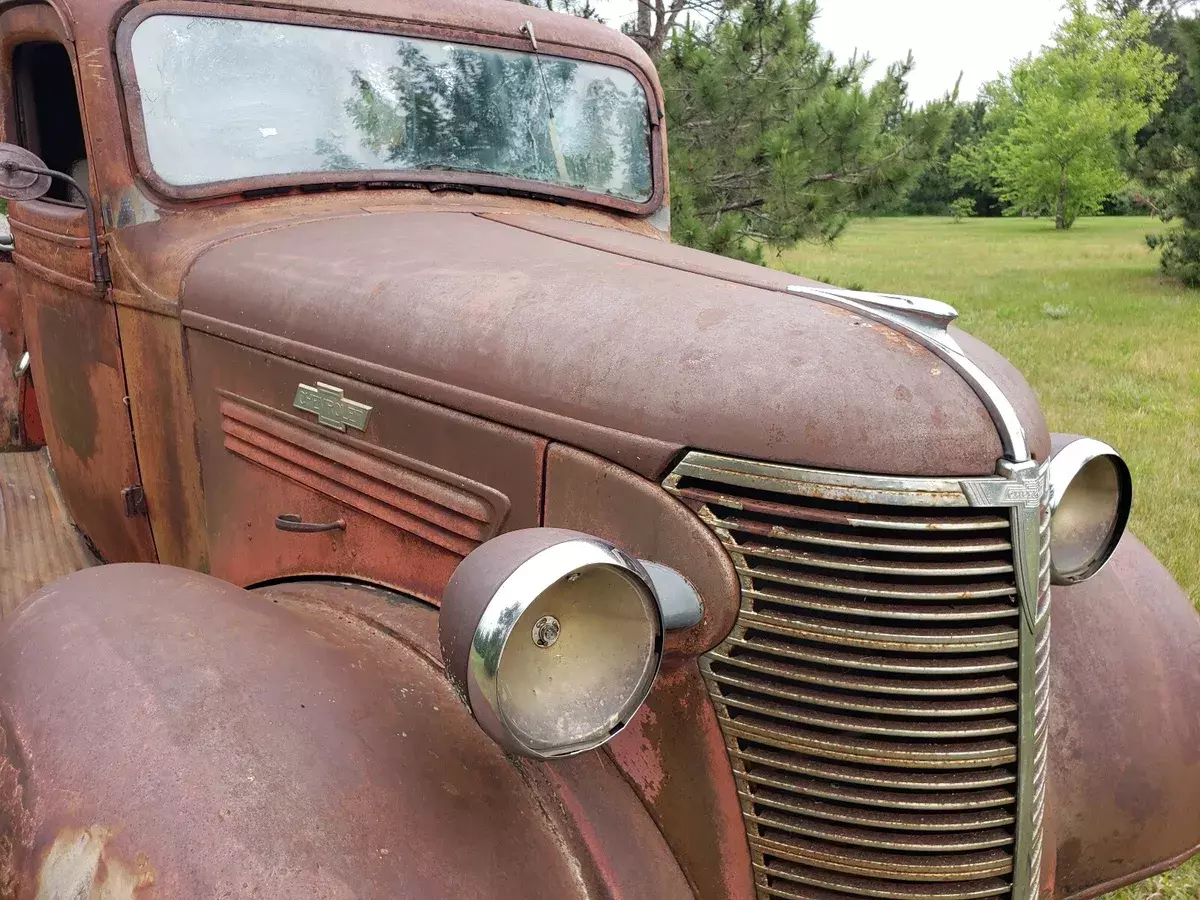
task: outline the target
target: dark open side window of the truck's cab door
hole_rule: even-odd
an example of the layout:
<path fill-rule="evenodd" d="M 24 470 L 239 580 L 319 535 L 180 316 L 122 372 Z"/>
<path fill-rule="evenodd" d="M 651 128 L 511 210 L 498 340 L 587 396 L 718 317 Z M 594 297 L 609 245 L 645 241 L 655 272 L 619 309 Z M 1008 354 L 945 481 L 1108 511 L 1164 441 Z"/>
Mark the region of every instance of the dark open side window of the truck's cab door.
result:
<path fill-rule="evenodd" d="M 88 190 L 88 154 L 71 58 L 58 43 L 20 44 L 13 52 L 17 138 L 47 168 L 71 175 Z M 55 179 L 47 198 L 79 203 L 74 190 Z"/>

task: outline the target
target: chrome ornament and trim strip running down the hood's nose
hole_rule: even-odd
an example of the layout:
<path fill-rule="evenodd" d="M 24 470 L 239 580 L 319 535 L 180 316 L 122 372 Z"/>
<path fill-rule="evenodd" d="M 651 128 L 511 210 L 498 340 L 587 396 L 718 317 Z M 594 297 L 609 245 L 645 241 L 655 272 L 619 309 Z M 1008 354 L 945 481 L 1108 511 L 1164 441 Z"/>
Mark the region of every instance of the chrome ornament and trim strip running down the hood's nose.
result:
<path fill-rule="evenodd" d="M 959 316 L 953 306 L 924 298 L 836 288 L 810 288 L 802 284 L 792 284 L 787 290 L 890 325 L 935 353 L 971 385 L 971 389 L 986 407 L 996 424 L 996 430 L 1000 432 L 1004 457 L 1010 462 L 1027 462 L 1032 458 L 1025 426 L 1021 425 L 1016 409 L 1000 386 L 971 361 L 947 330 Z"/>

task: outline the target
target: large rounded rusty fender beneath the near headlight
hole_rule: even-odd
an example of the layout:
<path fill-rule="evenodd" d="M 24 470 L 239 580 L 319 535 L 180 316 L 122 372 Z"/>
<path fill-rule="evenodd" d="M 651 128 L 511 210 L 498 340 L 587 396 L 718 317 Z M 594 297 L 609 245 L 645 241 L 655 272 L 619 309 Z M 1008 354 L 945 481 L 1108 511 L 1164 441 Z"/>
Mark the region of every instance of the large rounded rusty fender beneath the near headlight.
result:
<path fill-rule="evenodd" d="M 685 898 L 602 754 L 505 757 L 436 611 L 90 569 L 0 630 L 0 900 Z"/>

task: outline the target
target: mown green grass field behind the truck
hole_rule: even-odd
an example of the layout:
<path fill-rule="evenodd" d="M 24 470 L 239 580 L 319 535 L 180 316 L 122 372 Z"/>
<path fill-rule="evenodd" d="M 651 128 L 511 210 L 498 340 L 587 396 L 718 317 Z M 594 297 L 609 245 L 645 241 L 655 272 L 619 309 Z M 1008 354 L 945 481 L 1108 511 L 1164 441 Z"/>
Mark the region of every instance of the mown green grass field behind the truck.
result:
<path fill-rule="evenodd" d="M 1200 604 L 1200 292 L 1162 278 L 1151 218 L 882 218 L 772 260 L 842 287 L 944 300 L 1033 385 L 1052 431 L 1117 448 L 1133 529 Z M 1200 857 L 1115 894 L 1196 900 Z"/>

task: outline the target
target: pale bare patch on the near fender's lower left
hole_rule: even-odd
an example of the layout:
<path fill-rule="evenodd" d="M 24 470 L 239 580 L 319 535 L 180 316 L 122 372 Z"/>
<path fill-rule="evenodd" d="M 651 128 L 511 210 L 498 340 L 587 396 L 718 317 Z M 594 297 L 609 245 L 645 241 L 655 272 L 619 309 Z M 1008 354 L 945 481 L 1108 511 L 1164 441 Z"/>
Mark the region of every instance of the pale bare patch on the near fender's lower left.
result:
<path fill-rule="evenodd" d="M 106 852 L 110 828 L 64 828 L 37 875 L 37 900 L 136 900 L 154 884 L 145 857 L 133 865 Z"/>

